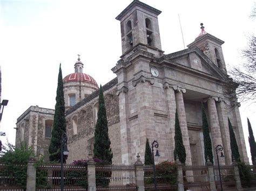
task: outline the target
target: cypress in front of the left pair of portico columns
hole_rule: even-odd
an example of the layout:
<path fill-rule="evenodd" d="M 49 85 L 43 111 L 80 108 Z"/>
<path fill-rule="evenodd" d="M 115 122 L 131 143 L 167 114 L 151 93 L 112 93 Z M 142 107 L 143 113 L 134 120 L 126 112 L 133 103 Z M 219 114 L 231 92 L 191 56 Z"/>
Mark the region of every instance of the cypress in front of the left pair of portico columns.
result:
<path fill-rule="evenodd" d="M 176 160 L 177 156 L 179 157 L 179 161 L 183 164 L 185 164 L 186 161 L 186 150 L 185 146 L 183 145 L 183 139 L 181 135 L 181 130 L 179 126 L 179 118 L 178 118 L 178 112 L 176 109 L 175 113 L 175 135 L 174 135 L 174 142 L 175 142 L 175 148 L 174 148 L 174 160 Z"/>

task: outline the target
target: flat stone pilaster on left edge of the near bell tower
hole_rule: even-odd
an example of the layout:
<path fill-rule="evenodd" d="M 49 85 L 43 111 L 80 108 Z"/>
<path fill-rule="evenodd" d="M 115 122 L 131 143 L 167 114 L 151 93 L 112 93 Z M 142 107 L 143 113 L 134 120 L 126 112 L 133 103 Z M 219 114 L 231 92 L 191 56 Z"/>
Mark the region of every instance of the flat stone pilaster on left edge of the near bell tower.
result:
<path fill-rule="evenodd" d="M 121 135 L 121 152 L 122 163 L 130 164 L 131 162 L 131 138 L 130 138 L 130 126 L 127 124 L 129 113 L 127 111 L 127 87 L 123 86 L 118 92 L 119 100 L 119 117 L 120 117 L 120 135 Z"/>

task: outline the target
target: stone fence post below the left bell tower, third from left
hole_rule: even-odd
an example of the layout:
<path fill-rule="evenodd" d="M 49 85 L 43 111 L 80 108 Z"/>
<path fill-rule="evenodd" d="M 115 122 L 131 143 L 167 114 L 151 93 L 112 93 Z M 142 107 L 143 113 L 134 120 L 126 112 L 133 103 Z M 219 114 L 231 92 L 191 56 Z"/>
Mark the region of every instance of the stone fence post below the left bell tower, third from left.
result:
<path fill-rule="evenodd" d="M 136 185 L 138 191 L 144 191 L 144 169 L 143 163 L 140 161 L 139 153 L 137 155 L 137 161 L 134 164 L 135 167 L 135 176 L 136 176 Z"/>

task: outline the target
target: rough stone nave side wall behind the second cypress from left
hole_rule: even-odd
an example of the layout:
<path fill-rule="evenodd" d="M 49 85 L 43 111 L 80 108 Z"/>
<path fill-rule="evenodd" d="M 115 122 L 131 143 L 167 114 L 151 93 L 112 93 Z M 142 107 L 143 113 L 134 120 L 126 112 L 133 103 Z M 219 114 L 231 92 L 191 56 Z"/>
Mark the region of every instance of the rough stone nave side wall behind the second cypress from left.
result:
<path fill-rule="evenodd" d="M 109 126 L 111 149 L 114 154 L 113 162 L 121 163 L 120 159 L 120 129 L 119 129 L 119 103 L 116 87 L 104 92 L 106 115 Z M 95 125 L 97 122 L 98 96 L 89 103 L 77 109 L 66 117 L 68 133 L 68 149 L 70 151 L 67 162 L 86 159 L 93 153 Z M 73 118 L 77 117 L 77 134 L 73 131 Z"/>

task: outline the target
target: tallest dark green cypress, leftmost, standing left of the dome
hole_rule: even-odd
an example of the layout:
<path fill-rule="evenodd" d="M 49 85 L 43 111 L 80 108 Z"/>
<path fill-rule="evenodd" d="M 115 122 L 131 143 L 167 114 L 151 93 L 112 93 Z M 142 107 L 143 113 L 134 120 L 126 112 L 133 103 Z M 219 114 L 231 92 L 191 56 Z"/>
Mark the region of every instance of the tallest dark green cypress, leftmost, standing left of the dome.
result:
<path fill-rule="evenodd" d="M 51 132 L 51 142 L 49 146 L 50 161 L 60 162 L 60 147 L 62 145 L 62 134 L 64 132 L 66 132 L 65 101 L 63 93 L 62 68 L 60 64 L 56 93 L 55 114 Z M 66 156 L 63 158 L 63 162 L 66 162 Z"/>

